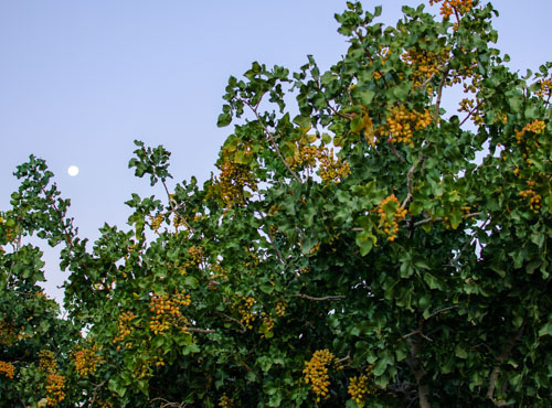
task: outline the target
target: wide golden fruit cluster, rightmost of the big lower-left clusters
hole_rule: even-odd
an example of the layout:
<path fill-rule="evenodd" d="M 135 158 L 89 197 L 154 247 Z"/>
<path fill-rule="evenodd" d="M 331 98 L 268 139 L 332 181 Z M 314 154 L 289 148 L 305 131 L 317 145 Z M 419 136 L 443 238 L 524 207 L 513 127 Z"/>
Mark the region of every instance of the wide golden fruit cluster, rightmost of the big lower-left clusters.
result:
<path fill-rule="evenodd" d="M 150 300 L 150 312 L 152 316 L 149 322 L 149 329 L 159 334 L 168 331 L 172 326 L 179 326 L 182 331 L 188 330 L 189 320 L 182 315 L 180 308 L 188 307 L 192 302 L 190 294 L 184 291 L 169 294 L 152 294 Z"/>

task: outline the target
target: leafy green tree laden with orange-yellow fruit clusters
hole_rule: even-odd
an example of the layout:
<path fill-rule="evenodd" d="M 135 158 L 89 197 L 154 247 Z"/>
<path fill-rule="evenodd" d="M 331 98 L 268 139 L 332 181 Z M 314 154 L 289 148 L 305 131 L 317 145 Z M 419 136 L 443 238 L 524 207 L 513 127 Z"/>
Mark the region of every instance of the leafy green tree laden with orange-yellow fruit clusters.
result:
<path fill-rule="evenodd" d="M 350 47 L 328 72 L 309 57 L 231 77 L 219 125 L 235 125 L 202 186 L 169 189 L 170 153 L 137 141 L 129 167 L 166 197 L 134 194 L 130 228 L 105 225 L 91 250 L 44 161 L 19 167 L 0 224 L 2 396 L 545 406 L 552 64 L 520 77 L 492 47 L 491 4 L 434 2 L 442 17 L 404 7 L 396 26 L 348 3 Z M 33 233 L 64 246 L 67 321 L 32 296 L 40 251 L 19 241 Z"/>

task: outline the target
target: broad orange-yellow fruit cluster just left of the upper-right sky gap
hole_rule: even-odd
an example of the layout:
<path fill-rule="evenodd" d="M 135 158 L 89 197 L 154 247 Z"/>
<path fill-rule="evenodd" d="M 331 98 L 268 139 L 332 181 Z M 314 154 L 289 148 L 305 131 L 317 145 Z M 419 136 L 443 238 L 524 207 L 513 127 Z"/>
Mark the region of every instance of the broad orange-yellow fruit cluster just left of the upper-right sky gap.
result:
<path fill-rule="evenodd" d="M 390 135 L 394 143 L 405 143 L 414 147 L 412 137 L 414 130 L 422 130 L 432 124 L 433 117 L 429 110 L 423 112 L 408 110 L 404 105 L 393 106 L 388 109 L 386 124 L 378 127 L 376 133 L 380 137 Z"/>

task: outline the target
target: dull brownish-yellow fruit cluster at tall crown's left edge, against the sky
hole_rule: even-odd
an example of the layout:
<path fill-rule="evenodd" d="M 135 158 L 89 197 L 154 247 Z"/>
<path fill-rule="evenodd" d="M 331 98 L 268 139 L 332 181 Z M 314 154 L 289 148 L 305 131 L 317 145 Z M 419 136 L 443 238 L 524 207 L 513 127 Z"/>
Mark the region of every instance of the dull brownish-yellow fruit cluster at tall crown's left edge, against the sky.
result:
<path fill-rule="evenodd" d="M 222 163 L 221 174 L 216 183 L 220 196 L 229 207 L 245 204 L 244 189 L 257 190 L 255 179 L 246 165 L 226 160 Z"/>

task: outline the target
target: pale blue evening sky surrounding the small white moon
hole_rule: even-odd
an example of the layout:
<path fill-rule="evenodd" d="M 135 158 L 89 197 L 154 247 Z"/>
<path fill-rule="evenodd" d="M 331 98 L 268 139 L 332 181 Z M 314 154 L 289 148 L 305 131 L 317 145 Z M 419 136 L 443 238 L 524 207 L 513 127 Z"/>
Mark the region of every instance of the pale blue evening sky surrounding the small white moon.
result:
<path fill-rule="evenodd" d="M 382 4 L 394 24 L 411 0 Z M 526 72 L 552 61 L 552 1 L 496 0 L 498 47 Z M 163 144 L 174 181 L 210 178 L 231 128 L 216 118 L 231 75 L 254 61 L 322 69 L 347 52 L 337 0 L 0 0 L 0 210 L 18 187 L 15 167 L 35 154 L 71 198 L 79 236 L 125 228 L 131 193 L 158 194 L 127 168 L 135 139 Z M 77 165 L 77 176 L 67 168 Z M 45 249 L 45 290 L 61 300 L 67 277 Z"/>

